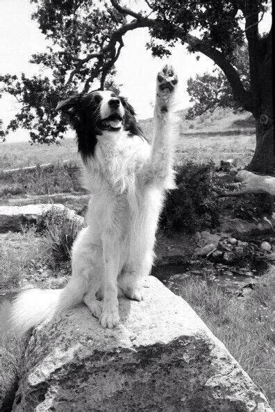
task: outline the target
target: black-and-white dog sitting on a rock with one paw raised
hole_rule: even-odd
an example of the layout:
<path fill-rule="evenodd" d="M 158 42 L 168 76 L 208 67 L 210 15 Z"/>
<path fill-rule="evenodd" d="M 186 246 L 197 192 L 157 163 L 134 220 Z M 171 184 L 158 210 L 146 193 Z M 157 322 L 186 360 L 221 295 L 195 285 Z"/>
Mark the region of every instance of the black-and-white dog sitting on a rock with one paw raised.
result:
<path fill-rule="evenodd" d="M 153 139 L 149 144 L 125 98 L 110 91 L 79 94 L 57 110 L 76 130 L 90 191 L 86 220 L 72 248 L 72 277 L 64 289 L 30 289 L 12 304 L 21 333 L 84 302 L 102 327 L 119 323 L 119 295 L 142 300 L 165 192 L 174 189 L 172 121 L 178 79 L 171 66 L 156 81 Z"/>

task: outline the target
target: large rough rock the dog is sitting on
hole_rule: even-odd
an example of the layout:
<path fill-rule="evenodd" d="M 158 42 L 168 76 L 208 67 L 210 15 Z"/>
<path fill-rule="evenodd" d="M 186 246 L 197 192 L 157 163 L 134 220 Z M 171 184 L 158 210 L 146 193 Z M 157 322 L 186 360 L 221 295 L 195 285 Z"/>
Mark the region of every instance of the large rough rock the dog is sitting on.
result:
<path fill-rule="evenodd" d="M 103 329 L 81 306 L 36 328 L 13 411 L 272 411 L 188 303 L 156 278 Z"/>

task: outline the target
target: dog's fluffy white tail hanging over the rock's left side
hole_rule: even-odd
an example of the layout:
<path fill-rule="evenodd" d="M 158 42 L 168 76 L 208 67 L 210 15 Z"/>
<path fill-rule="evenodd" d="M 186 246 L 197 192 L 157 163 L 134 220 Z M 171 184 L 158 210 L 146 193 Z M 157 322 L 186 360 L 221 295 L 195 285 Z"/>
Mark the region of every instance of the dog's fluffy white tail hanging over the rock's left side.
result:
<path fill-rule="evenodd" d="M 12 302 L 11 324 L 17 334 L 24 334 L 43 320 L 83 300 L 84 285 L 71 278 L 64 289 L 28 289 Z"/>

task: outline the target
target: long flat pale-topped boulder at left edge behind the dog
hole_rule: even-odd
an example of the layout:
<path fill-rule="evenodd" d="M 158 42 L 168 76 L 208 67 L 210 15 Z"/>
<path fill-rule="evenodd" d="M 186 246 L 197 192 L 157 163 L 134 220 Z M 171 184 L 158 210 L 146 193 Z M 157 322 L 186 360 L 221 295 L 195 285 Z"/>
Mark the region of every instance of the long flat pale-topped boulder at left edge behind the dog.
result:
<path fill-rule="evenodd" d="M 66 209 L 65 206 L 61 204 L 46 203 L 24 206 L 0 206 L 0 232 L 19 232 L 22 230 L 22 226 L 37 223 L 38 217 L 48 212 L 52 207 L 66 210 L 69 218 L 77 218 L 83 222 L 83 218 L 78 216 L 74 210 Z"/>

